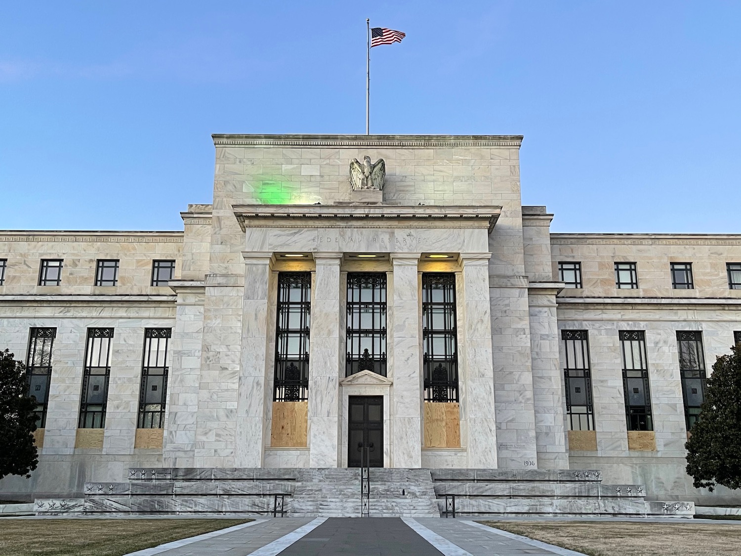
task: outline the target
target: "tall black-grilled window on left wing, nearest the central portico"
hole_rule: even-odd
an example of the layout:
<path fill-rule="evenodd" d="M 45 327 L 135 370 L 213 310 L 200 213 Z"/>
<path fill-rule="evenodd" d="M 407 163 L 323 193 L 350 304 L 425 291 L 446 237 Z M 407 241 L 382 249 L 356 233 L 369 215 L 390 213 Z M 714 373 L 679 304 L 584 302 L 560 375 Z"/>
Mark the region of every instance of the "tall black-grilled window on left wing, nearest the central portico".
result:
<path fill-rule="evenodd" d="M 144 328 L 138 428 L 163 428 L 167 401 L 167 344 L 172 328 Z"/>

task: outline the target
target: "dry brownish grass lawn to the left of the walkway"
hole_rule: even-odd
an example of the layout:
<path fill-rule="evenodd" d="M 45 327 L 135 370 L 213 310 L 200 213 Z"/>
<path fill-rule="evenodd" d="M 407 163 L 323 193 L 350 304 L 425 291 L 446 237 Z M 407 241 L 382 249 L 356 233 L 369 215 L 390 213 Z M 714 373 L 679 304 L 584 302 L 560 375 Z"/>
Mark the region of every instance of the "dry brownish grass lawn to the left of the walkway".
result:
<path fill-rule="evenodd" d="M 0 520 L 0 556 L 121 556 L 250 519 Z"/>

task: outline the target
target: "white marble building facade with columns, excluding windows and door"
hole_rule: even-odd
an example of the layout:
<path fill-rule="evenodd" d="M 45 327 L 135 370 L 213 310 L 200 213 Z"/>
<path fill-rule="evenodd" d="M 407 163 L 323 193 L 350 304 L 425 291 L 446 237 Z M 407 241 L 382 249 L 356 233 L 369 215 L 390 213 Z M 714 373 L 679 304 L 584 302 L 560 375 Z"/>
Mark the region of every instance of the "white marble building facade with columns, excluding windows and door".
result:
<path fill-rule="evenodd" d="M 383 397 L 388 467 L 602 469 L 650 496 L 700 500 L 683 471 L 676 331 L 702 331 L 708 371 L 741 330 L 727 262 L 741 236 L 550 234 L 553 215 L 522 207 L 520 136 L 215 135 L 213 203 L 188 205 L 182 232 L 0 233 L 0 348 L 24 360 L 29 328 L 57 328 L 47 426 L 16 496 L 79 494 L 127 467 L 343 467 L 350 396 Z M 384 191 L 353 192 L 350 159 L 385 159 Z M 304 257 L 287 258 L 286 254 Z M 375 258 L 358 258 L 374 254 Z M 448 258 L 431 258 L 445 254 Z M 40 259 L 64 259 L 39 286 Z M 96 259 L 120 259 L 96 287 Z M 152 261 L 176 260 L 169 286 Z M 581 262 L 564 288 L 558 262 Z M 639 288 L 616 289 L 614 262 Z M 671 288 L 692 262 L 695 288 Z M 312 274 L 307 445 L 270 446 L 279 271 Z M 348 272 L 388 277 L 388 376 L 345 376 Z M 456 274 L 460 446 L 425 447 L 421 274 Z M 112 327 L 102 447 L 76 447 L 86 328 Z M 144 328 L 173 329 L 162 448 L 136 448 Z M 587 330 L 595 451 L 569 450 L 562 329 Z M 628 449 L 617 331 L 644 330 L 656 449 Z M 717 497 L 730 499 L 720 492 Z"/>

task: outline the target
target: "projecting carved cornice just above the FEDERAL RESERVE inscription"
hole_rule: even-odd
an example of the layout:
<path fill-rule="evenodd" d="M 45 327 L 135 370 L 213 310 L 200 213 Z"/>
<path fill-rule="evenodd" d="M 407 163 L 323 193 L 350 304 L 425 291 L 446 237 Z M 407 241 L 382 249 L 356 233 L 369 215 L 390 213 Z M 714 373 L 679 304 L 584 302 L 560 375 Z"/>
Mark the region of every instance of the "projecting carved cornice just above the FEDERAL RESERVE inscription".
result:
<path fill-rule="evenodd" d="M 487 228 L 501 214 L 495 205 L 232 205 L 247 228 Z M 334 221 L 334 222 L 333 222 Z M 348 222 L 352 221 L 352 222 Z M 388 222 L 386 222 L 388 221 Z"/>

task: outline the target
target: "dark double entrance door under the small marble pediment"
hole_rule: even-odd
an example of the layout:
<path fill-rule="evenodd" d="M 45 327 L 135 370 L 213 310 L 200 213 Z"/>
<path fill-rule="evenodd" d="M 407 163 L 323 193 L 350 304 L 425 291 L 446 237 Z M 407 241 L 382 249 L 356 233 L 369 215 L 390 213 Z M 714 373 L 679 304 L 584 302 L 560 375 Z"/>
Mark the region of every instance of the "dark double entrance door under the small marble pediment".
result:
<path fill-rule="evenodd" d="M 360 467 L 368 446 L 371 467 L 383 467 L 383 396 L 350 396 L 348 467 Z"/>

